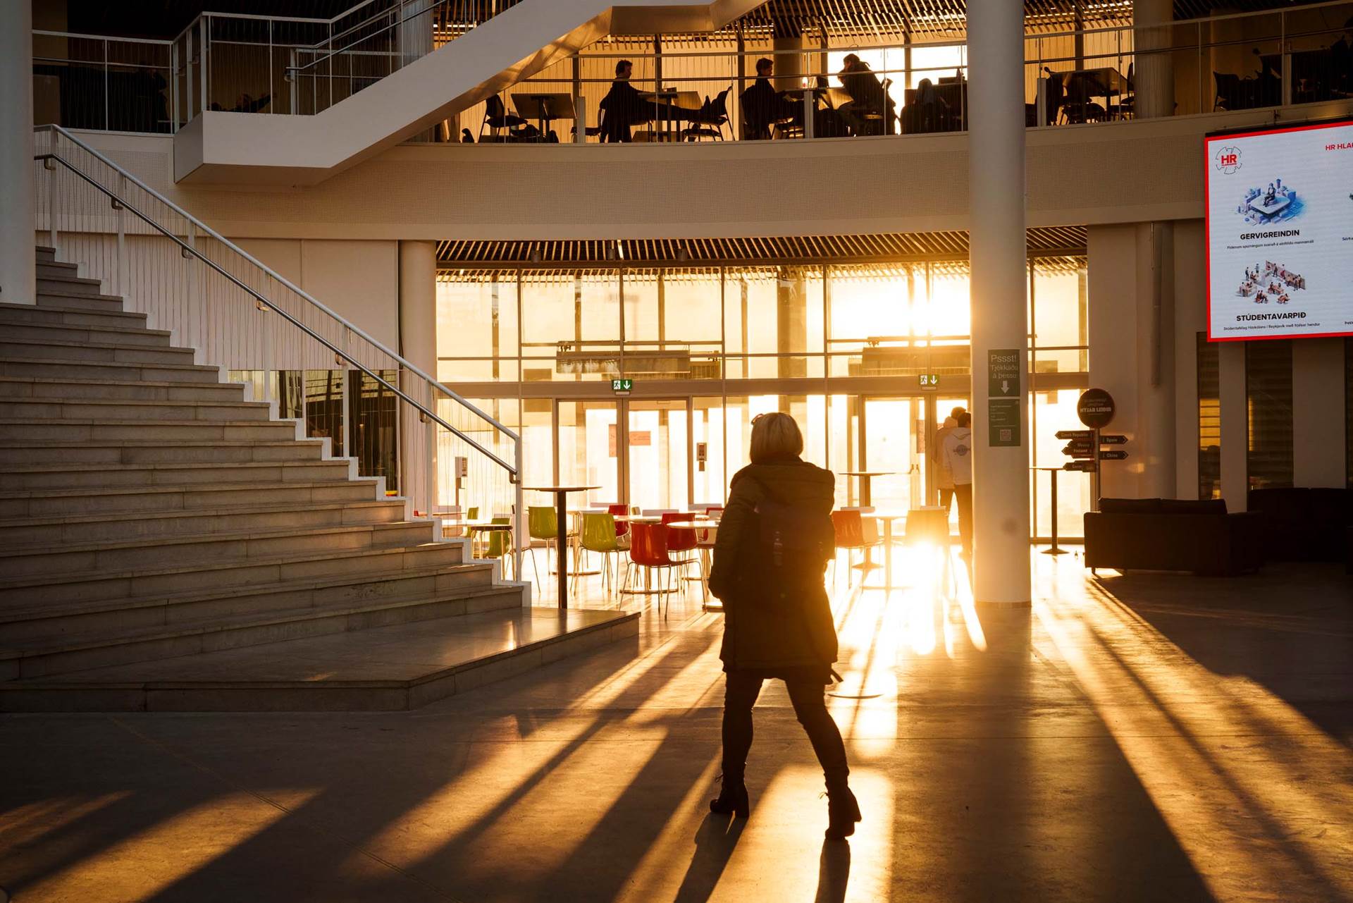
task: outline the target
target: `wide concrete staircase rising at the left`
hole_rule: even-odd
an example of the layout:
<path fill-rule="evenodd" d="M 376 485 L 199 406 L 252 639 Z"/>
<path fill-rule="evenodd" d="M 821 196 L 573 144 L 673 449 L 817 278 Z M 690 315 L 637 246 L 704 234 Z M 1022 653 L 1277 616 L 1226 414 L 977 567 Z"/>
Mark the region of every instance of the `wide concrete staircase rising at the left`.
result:
<path fill-rule="evenodd" d="M 407 520 L 383 479 L 245 401 L 244 386 L 193 364 L 74 264 L 39 248 L 38 278 L 37 306 L 0 305 L 0 711 L 156 707 L 153 688 L 126 680 L 96 690 L 108 669 L 135 663 L 157 662 L 164 684 L 176 663 L 227 650 L 283 643 L 279 655 L 304 657 L 300 644 L 326 638 L 333 650 L 336 634 L 425 621 L 421 636 L 453 638 L 471 616 L 482 628 L 494 613 L 530 615 L 525 588 L 499 581 L 497 565 Z M 551 643 L 572 631 L 556 634 Z M 277 708 L 275 680 L 248 692 L 257 659 L 230 661 L 216 667 L 235 689 L 226 707 Z M 346 707 L 334 704 L 342 693 L 307 703 L 304 689 L 334 680 L 300 682 L 284 708 Z M 403 699 L 449 692 L 455 681 Z M 179 686 L 161 707 L 222 707 L 203 693 Z"/>

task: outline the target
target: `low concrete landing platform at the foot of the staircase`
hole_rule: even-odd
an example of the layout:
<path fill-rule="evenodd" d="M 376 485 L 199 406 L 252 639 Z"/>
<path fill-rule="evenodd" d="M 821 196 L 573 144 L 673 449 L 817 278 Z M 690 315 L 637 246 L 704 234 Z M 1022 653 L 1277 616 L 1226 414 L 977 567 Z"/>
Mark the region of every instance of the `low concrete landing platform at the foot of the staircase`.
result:
<path fill-rule="evenodd" d="M 637 636 L 637 612 L 503 609 L 0 682 L 0 711 L 405 711 Z"/>

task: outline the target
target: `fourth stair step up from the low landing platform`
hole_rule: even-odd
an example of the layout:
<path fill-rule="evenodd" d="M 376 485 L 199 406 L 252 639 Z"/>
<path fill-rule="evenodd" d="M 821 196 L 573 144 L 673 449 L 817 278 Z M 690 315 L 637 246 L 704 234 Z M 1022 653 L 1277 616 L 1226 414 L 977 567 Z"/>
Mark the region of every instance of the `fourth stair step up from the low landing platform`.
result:
<path fill-rule="evenodd" d="M 207 535 L 93 540 L 58 547 L 32 544 L 0 548 L 0 579 L 183 566 L 195 562 L 262 560 L 281 555 L 364 551 L 417 546 L 433 539 L 433 523 L 285 527 Z"/>

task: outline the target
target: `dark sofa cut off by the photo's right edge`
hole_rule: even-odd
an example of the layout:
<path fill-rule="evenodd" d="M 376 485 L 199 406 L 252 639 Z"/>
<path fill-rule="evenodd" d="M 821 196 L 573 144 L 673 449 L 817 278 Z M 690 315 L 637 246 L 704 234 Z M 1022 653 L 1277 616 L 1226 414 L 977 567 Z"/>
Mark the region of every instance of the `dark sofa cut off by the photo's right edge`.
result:
<path fill-rule="evenodd" d="M 1353 490 L 1252 489 L 1268 558 L 1281 562 L 1346 562 L 1353 567 Z"/>

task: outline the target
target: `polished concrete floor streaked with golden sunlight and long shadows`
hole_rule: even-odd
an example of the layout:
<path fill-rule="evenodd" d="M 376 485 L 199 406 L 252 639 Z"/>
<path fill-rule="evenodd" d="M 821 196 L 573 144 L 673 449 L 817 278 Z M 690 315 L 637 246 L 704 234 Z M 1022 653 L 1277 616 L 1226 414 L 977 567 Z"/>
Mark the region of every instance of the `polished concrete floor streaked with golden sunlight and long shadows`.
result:
<path fill-rule="evenodd" d="M 898 552 L 835 597 L 865 822 L 779 685 L 708 812 L 721 616 L 396 713 L 0 718 L 0 887 L 181 900 L 1353 900 L 1353 581 L 1101 574 L 1032 611 Z M 593 605 L 614 604 L 597 586 Z M 651 607 L 628 600 L 626 607 Z"/>

